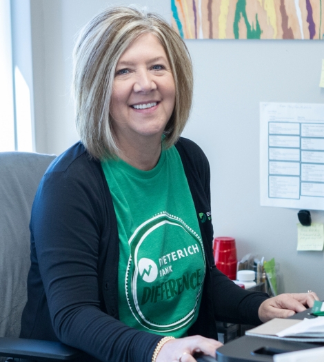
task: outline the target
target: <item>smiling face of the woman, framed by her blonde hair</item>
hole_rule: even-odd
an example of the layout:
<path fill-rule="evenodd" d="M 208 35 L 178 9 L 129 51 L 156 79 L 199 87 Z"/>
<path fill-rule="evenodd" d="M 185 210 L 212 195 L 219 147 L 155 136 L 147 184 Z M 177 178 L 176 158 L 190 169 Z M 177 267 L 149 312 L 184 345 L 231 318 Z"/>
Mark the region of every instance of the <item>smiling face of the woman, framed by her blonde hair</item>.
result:
<path fill-rule="evenodd" d="M 150 33 L 136 39 L 117 63 L 110 114 L 120 146 L 161 141 L 175 103 L 175 85 L 163 46 Z"/>

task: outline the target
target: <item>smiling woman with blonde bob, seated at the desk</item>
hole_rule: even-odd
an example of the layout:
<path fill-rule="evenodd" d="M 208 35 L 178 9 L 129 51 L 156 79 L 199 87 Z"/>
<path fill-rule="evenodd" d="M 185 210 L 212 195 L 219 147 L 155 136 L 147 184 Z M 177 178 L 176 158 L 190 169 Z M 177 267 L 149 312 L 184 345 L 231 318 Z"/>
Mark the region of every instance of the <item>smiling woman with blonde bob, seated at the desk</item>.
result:
<path fill-rule="evenodd" d="M 60 340 L 84 361 L 214 356 L 215 321 L 259 324 L 316 295 L 268 299 L 237 287 L 212 257 L 210 170 L 180 134 L 192 65 L 163 19 L 101 12 L 74 50 L 81 142 L 44 175 L 32 208 L 21 336 Z"/>

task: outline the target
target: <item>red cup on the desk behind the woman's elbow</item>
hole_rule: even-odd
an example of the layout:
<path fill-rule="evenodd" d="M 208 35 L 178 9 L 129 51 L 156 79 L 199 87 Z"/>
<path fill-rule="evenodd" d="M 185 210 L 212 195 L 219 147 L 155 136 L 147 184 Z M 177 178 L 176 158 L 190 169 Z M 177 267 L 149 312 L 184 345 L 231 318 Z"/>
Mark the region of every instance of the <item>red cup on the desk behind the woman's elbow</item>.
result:
<path fill-rule="evenodd" d="M 216 267 L 230 279 L 236 279 L 236 245 L 231 237 L 217 237 L 214 239 L 214 260 Z"/>

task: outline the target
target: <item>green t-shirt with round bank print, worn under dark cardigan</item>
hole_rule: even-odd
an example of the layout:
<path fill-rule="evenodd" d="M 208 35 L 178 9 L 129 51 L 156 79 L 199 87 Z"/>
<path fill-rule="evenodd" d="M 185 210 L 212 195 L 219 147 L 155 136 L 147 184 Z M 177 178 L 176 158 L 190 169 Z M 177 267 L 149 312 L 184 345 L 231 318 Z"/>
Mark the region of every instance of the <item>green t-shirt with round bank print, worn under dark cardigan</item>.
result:
<path fill-rule="evenodd" d="M 184 336 L 199 312 L 205 254 L 178 151 L 150 171 L 102 163 L 119 231 L 119 317 L 137 330 Z"/>

